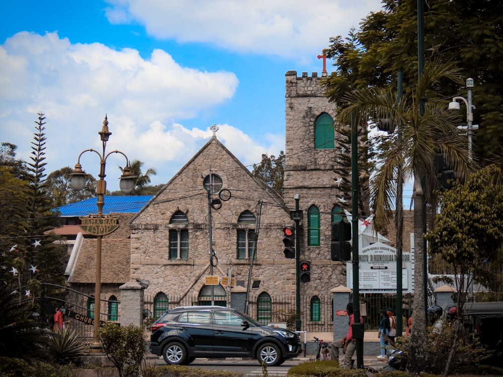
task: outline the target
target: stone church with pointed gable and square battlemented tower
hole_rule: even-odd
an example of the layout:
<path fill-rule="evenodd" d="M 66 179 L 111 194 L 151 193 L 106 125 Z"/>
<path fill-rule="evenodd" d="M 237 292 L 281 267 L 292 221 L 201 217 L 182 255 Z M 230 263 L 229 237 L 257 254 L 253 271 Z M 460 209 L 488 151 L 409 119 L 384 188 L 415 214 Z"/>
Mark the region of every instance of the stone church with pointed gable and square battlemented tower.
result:
<path fill-rule="evenodd" d="M 346 284 L 346 264 L 330 260 L 330 223 L 343 213 L 344 193 L 334 183 L 341 148 L 321 79 L 315 72 L 286 73 L 284 198 L 255 178 L 214 133 L 132 218 L 131 280 L 149 281 L 145 297 L 153 298 L 154 316 L 168 306 L 208 304 L 211 298 L 226 305 L 226 287 L 205 282 L 210 275 L 227 276 L 228 269 L 236 281 L 231 301 L 233 293 L 252 285 L 250 306 L 269 320 L 278 298 L 294 305 L 297 266 L 283 253 L 282 229 L 295 225 L 290 210 L 300 194 L 300 260 L 311 264 L 311 280 L 300 283 L 308 303 L 302 310 L 315 312 L 310 321 L 331 323 L 331 311 L 321 318 L 320 301 Z"/>

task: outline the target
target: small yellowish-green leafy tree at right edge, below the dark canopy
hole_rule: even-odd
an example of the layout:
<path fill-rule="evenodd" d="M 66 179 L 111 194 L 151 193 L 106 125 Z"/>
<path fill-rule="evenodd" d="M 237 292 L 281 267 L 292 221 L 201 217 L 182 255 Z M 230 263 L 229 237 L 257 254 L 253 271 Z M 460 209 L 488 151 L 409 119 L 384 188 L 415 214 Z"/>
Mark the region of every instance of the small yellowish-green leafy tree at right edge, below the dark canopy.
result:
<path fill-rule="evenodd" d="M 463 305 L 471 277 L 486 287 L 498 287 L 498 269 L 503 246 L 503 176 L 495 165 L 473 174 L 465 184 L 454 181 L 441 194 L 435 228 L 428 232 L 430 252 L 453 266 L 458 305 Z M 495 275 L 496 274 L 496 275 Z"/>

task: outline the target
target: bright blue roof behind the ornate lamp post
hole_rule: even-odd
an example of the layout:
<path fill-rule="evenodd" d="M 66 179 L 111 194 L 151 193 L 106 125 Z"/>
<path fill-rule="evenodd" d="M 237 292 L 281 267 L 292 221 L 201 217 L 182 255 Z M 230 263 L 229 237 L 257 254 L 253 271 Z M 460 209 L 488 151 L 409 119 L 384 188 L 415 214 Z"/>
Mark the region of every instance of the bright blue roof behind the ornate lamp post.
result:
<path fill-rule="evenodd" d="M 127 212 L 135 213 L 140 211 L 150 199 L 152 195 L 142 196 L 111 196 L 105 195 L 105 205 L 103 206 L 103 213 L 109 214 L 111 212 Z M 96 198 L 86 199 L 81 202 L 70 203 L 56 209 L 61 213 L 61 217 L 76 217 L 88 216 L 98 212 L 96 206 Z"/>

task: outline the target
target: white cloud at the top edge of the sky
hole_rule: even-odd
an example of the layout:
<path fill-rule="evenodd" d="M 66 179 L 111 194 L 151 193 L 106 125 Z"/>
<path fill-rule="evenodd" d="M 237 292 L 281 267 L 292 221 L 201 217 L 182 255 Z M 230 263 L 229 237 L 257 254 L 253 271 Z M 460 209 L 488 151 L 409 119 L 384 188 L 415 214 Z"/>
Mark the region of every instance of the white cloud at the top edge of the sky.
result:
<path fill-rule="evenodd" d="M 303 60 L 346 36 L 381 0 L 108 0 L 111 23 L 137 22 L 159 39 Z"/>

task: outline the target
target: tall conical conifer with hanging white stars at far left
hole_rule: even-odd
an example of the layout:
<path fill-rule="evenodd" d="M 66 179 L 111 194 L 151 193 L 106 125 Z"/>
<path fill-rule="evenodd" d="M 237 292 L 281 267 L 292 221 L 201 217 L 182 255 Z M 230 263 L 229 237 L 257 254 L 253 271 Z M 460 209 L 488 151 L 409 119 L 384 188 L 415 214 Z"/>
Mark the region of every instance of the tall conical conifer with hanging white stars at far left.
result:
<path fill-rule="evenodd" d="M 60 225 L 60 219 L 52 211 L 52 202 L 46 192 L 44 120 L 43 114 L 39 114 L 35 122 L 27 181 L 18 186 L 22 189 L 17 193 L 22 203 L 12 216 L 11 247 L 7 248 L 2 260 L 10 269 L 4 270 L 3 278 L 9 286 L 17 287 L 20 300 L 25 295 L 40 296 L 41 282 L 64 283 L 65 248 L 55 244 L 57 237 L 49 234 Z"/>

